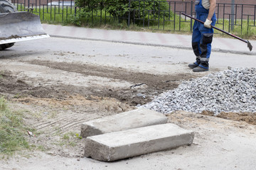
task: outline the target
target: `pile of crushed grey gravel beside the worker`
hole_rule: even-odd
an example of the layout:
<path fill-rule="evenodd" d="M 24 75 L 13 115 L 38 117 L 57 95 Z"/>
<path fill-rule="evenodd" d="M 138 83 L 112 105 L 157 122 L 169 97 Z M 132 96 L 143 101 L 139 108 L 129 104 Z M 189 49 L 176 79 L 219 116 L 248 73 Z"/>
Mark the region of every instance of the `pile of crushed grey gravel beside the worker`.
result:
<path fill-rule="evenodd" d="M 255 112 L 256 69 L 230 68 L 223 72 L 185 81 L 142 106 L 160 113 Z"/>

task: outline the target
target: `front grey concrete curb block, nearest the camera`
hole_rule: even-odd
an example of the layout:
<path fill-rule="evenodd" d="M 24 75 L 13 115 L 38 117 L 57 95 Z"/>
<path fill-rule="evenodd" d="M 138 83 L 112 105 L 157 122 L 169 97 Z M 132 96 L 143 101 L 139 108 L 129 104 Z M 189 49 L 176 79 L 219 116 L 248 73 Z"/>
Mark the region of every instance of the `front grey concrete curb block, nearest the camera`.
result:
<path fill-rule="evenodd" d="M 172 123 L 152 125 L 85 139 L 85 157 L 105 162 L 191 145 L 194 133 Z"/>

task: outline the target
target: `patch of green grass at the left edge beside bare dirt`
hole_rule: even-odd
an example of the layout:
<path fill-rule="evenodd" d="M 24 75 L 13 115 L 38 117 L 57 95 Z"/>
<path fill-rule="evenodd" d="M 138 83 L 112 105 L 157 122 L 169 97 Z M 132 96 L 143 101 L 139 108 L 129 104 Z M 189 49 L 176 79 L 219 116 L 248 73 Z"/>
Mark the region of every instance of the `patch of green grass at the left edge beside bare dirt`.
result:
<path fill-rule="evenodd" d="M 30 145 L 25 139 L 26 127 L 23 114 L 11 111 L 4 97 L 0 98 L 0 155 L 9 157 L 16 151 L 28 149 Z"/>

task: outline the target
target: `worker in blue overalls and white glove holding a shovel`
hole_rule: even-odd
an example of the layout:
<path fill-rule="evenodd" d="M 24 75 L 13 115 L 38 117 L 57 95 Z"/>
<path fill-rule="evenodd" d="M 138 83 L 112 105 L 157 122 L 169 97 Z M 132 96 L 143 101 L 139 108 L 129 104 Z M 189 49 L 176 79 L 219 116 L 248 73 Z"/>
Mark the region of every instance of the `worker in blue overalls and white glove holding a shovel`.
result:
<path fill-rule="evenodd" d="M 196 18 L 193 25 L 192 47 L 196 55 L 196 62 L 188 64 L 193 72 L 206 72 L 209 70 L 211 42 L 213 41 L 213 28 L 216 22 L 216 0 L 196 0 Z"/>

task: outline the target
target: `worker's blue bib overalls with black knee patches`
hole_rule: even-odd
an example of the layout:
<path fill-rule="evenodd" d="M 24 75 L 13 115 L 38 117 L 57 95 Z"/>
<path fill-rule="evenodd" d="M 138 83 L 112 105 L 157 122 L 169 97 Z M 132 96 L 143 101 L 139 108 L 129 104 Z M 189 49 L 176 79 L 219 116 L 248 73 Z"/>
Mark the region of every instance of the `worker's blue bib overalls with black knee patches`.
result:
<path fill-rule="evenodd" d="M 205 22 L 206 18 L 208 17 L 209 10 L 203 7 L 202 1 L 204 0 L 196 0 L 196 18 Z M 213 21 L 211 25 L 215 26 L 215 13 L 213 14 L 213 18 L 211 20 Z M 208 69 L 212 41 L 213 28 L 206 28 L 203 26 L 203 23 L 195 21 L 192 34 L 192 47 L 193 52 L 196 55 L 196 62 L 194 62 L 194 64 Z"/>

